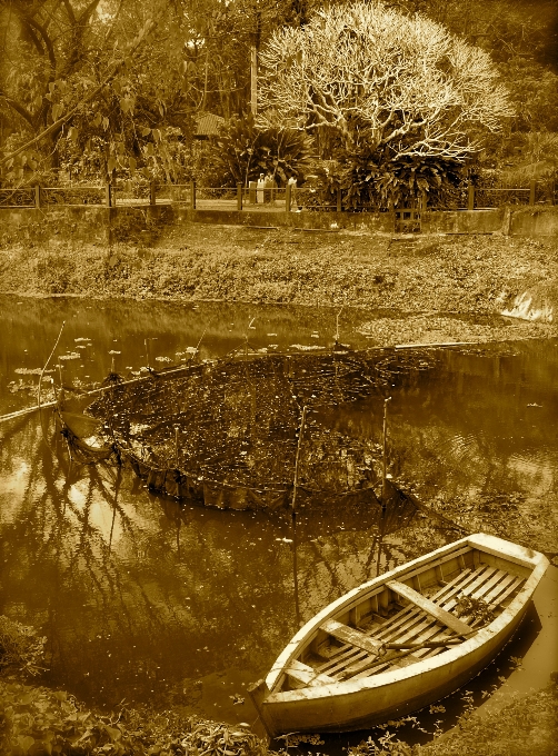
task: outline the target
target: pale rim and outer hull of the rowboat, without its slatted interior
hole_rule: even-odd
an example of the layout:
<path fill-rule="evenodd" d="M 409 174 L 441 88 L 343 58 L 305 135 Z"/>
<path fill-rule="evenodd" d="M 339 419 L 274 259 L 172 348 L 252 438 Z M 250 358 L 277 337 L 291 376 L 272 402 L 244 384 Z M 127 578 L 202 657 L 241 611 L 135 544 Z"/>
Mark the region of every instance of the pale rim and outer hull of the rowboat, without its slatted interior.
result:
<path fill-rule="evenodd" d="M 366 596 L 378 594 L 388 580 L 405 580 L 412 573 L 428 570 L 430 564 L 451 558 L 464 547 L 475 549 L 480 559 L 502 567 L 509 565 L 525 575 L 525 583 L 497 618 L 469 639 L 431 658 L 402 668 L 358 679 L 286 689 L 286 672 L 303 657 L 328 619 L 348 617 Z M 477 557 L 478 558 L 478 557 Z M 491 563 L 490 563 L 491 560 Z M 405 716 L 439 700 L 475 677 L 497 656 L 517 629 L 545 574 L 548 560 L 541 554 L 500 538 L 477 534 L 387 573 L 337 599 L 292 638 L 265 682 L 251 692 L 261 719 L 271 736 L 289 732 L 347 732 L 363 729 Z"/>

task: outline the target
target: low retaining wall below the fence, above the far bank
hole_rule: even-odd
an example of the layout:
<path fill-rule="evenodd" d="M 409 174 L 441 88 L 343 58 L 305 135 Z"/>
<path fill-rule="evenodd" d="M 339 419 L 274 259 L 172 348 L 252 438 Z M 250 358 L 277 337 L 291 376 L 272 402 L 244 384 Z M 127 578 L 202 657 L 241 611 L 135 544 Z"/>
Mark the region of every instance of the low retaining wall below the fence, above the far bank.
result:
<path fill-rule="evenodd" d="M 178 205 L 60 206 L 0 208 L 0 243 L 66 239 L 108 245 L 149 246 L 169 227 L 185 223 L 366 230 L 393 233 L 391 212 L 285 212 L 282 210 L 191 210 Z M 424 233 L 558 236 L 558 208 L 432 211 L 422 215 Z"/>

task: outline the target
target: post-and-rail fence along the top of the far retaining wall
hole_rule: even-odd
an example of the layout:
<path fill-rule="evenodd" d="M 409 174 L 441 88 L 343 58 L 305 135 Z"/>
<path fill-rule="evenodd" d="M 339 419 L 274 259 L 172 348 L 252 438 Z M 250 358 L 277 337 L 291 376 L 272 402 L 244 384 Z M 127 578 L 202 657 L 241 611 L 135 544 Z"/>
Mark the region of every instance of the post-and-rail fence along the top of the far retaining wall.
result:
<path fill-rule="evenodd" d="M 508 205 L 556 205 L 558 187 L 556 182 L 532 180 L 529 187 L 491 187 L 476 188 L 472 185 L 457 191 L 449 203 L 428 202 L 428 210 L 484 210 Z M 117 181 L 104 186 L 69 186 L 69 187 L 26 187 L 20 189 L 0 189 L 0 207 L 30 208 L 49 206 L 146 206 L 146 205 L 186 205 L 191 209 L 213 210 L 267 210 L 297 212 L 342 211 L 341 190 L 337 196 L 326 197 L 313 187 L 249 187 L 238 183 L 236 187 L 197 187 L 195 181 L 188 183 L 145 183 L 130 186 L 129 182 Z M 427 209 L 421 200 L 422 210 Z M 358 208 L 359 211 L 379 211 L 372 205 Z"/>

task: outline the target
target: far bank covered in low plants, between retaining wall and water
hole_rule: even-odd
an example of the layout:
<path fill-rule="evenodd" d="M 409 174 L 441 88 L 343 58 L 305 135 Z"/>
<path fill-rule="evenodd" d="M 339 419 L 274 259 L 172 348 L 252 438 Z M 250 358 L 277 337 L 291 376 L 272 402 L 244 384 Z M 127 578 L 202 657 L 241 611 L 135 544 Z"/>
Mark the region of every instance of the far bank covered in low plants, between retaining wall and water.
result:
<path fill-rule="evenodd" d="M 558 240 L 190 225 L 153 247 L 4 246 L 0 294 L 347 305 L 390 311 L 363 314 L 378 344 L 524 338 L 556 332 Z M 502 311 L 527 319 L 452 317 Z"/>

